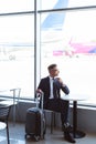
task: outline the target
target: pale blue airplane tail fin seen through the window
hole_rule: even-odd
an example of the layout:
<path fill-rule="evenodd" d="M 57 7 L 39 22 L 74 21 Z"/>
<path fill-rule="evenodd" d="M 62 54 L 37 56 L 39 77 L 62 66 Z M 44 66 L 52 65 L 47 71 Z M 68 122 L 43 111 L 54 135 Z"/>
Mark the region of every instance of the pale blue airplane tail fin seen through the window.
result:
<path fill-rule="evenodd" d="M 58 0 L 53 9 L 66 8 L 68 4 L 68 0 Z M 62 30 L 65 20 L 65 13 L 50 13 L 43 23 L 41 24 L 41 29 L 43 30 Z"/>

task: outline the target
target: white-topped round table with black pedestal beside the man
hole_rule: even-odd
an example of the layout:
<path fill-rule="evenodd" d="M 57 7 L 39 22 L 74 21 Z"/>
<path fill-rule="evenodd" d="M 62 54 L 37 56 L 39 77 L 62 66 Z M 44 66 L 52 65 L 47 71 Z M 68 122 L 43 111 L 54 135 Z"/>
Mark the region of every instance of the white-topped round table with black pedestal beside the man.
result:
<path fill-rule="evenodd" d="M 71 133 L 74 138 L 81 138 L 85 136 L 85 133 L 77 130 L 77 101 L 85 101 L 86 97 L 82 95 L 63 95 L 61 99 L 65 101 L 73 101 L 73 132 Z"/>

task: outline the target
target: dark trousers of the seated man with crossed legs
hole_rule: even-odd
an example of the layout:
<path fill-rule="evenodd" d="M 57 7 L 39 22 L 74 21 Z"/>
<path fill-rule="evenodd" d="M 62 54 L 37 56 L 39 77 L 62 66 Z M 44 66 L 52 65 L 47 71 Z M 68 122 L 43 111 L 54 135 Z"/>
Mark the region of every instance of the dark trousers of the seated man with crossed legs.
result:
<path fill-rule="evenodd" d="M 62 99 L 50 99 L 44 103 L 44 109 L 61 113 L 62 125 L 68 122 L 70 102 Z"/>

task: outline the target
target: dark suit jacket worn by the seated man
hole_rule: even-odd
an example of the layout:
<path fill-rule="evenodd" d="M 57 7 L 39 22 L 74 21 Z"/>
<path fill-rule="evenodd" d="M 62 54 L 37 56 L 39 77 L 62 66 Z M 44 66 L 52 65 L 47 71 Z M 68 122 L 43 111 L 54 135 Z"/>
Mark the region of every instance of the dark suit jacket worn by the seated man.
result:
<path fill-rule="evenodd" d="M 56 97 L 61 97 L 60 90 L 62 90 L 65 94 L 70 93 L 67 85 L 63 86 L 56 79 L 55 79 L 55 85 L 57 91 Z M 41 79 L 38 89 L 41 89 L 44 92 L 44 102 L 47 102 L 50 97 L 50 78 L 46 76 L 44 79 Z"/>

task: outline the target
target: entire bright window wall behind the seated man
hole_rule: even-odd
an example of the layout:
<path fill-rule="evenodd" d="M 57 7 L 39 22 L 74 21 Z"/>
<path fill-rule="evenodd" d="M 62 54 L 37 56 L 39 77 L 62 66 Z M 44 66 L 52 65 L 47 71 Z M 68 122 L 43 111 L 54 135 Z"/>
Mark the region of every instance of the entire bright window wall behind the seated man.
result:
<path fill-rule="evenodd" d="M 21 97 L 32 99 L 40 81 L 34 78 L 57 63 L 71 93 L 96 104 L 96 0 L 34 2 L 0 1 L 0 89 L 18 86 Z"/>

